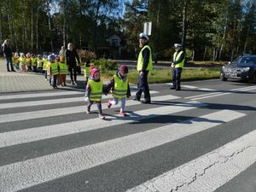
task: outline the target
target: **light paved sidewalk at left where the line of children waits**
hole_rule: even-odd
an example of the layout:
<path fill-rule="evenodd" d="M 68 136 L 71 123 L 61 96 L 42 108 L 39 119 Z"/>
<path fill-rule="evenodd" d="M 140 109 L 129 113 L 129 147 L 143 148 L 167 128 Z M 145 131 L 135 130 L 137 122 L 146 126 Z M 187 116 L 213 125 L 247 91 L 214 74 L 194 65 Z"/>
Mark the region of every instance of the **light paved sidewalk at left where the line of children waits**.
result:
<path fill-rule="evenodd" d="M 78 85 L 69 85 L 70 78 L 67 75 L 67 87 L 59 88 L 61 90 L 84 90 L 84 76 L 78 75 Z M 57 90 L 60 90 L 57 89 Z M 20 91 L 39 91 L 39 90 L 55 90 L 49 85 L 49 81 L 44 80 L 44 74 L 41 73 L 21 73 L 7 72 L 6 61 L 2 57 L 0 59 L 0 94 L 1 93 L 13 93 Z"/>

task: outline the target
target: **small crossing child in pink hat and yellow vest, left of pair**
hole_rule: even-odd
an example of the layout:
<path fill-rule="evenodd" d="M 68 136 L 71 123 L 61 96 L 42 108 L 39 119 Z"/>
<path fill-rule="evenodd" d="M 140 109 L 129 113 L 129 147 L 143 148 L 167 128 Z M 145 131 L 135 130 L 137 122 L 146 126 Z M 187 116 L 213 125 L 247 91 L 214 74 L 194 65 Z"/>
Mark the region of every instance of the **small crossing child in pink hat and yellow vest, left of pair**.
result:
<path fill-rule="evenodd" d="M 99 112 L 99 118 L 105 119 L 105 116 L 102 114 L 102 89 L 103 83 L 100 78 L 100 71 L 97 68 L 92 68 L 90 70 L 91 79 L 88 81 L 86 90 L 85 90 L 85 101 L 88 101 L 86 113 L 90 113 L 91 105 L 96 102 Z"/>

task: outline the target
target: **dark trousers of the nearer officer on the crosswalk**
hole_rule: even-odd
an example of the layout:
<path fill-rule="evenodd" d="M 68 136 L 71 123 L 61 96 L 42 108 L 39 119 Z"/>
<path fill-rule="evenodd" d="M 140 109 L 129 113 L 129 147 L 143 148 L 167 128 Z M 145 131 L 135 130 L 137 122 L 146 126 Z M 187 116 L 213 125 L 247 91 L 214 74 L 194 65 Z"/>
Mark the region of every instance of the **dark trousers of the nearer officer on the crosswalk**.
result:
<path fill-rule="evenodd" d="M 145 102 L 151 102 L 149 88 L 148 88 L 148 71 L 143 73 L 143 77 L 139 76 L 137 81 L 137 100 L 141 99 L 142 93 L 144 93 Z"/>

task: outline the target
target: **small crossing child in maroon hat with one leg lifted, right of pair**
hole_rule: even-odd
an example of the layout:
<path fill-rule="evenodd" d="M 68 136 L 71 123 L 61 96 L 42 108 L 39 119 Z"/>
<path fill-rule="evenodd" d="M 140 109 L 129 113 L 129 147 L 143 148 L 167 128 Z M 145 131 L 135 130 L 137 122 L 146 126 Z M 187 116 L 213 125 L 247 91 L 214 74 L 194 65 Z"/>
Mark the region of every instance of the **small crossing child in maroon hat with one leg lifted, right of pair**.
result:
<path fill-rule="evenodd" d="M 127 113 L 125 113 L 125 97 L 129 98 L 131 96 L 127 74 L 128 67 L 121 65 L 119 67 L 119 71 L 113 75 L 113 79 L 111 79 L 106 90 L 106 93 L 110 90 L 112 90 L 113 93 L 113 100 L 108 101 L 108 108 L 111 108 L 112 105 L 118 104 L 120 100 L 121 108 L 119 114 L 123 117 L 127 116 Z"/>

